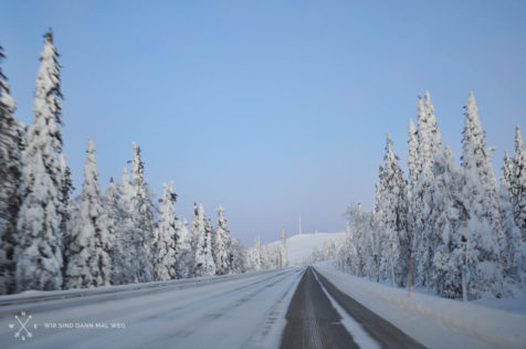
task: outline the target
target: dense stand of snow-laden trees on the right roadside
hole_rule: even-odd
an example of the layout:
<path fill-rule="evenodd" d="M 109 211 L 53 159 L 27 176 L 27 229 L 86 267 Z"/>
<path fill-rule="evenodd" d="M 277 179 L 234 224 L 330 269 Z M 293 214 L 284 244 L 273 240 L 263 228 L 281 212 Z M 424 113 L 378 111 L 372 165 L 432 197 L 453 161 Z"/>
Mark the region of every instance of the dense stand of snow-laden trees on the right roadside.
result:
<path fill-rule="evenodd" d="M 397 286 L 412 283 L 449 298 L 502 297 L 524 287 L 526 150 L 516 127 L 515 155 L 505 154 L 499 186 L 473 93 L 465 107 L 461 167 L 442 144 L 429 93 L 409 123 L 409 178 L 387 135 L 376 204 L 347 211 L 347 237 L 316 251 L 339 268 Z"/>

